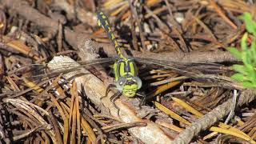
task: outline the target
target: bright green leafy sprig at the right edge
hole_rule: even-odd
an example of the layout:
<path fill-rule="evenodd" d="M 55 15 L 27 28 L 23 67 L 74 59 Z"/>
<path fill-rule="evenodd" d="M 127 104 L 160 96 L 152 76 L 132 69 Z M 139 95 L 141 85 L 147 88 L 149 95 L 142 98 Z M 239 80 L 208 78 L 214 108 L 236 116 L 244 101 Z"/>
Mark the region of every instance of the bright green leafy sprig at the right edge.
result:
<path fill-rule="evenodd" d="M 233 68 L 237 74 L 231 76 L 234 80 L 242 82 L 245 87 L 256 87 L 256 22 L 253 21 L 251 14 L 244 13 L 240 18 L 246 22 L 246 33 L 241 38 L 241 51 L 234 47 L 227 50 L 234 55 L 235 58 L 242 60 L 243 65 L 234 65 Z M 247 46 L 248 33 L 253 34 L 254 38 Z"/>

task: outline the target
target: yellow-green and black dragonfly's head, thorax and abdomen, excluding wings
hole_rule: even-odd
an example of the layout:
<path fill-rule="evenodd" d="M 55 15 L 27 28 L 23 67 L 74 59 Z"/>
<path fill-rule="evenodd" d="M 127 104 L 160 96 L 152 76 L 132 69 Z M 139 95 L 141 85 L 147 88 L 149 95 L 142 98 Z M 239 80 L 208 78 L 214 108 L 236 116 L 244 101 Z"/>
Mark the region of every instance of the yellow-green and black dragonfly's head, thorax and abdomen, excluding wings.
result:
<path fill-rule="evenodd" d="M 117 38 L 111 30 L 110 22 L 106 15 L 100 11 L 98 16 L 98 26 L 102 26 L 110 40 L 114 44 L 114 48 L 118 54 L 118 59 L 114 62 L 114 78 L 116 88 L 122 91 L 126 97 L 134 97 L 137 90 L 142 87 L 142 80 L 138 78 L 138 69 L 133 58 L 126 58 L 121 52 Z"/>

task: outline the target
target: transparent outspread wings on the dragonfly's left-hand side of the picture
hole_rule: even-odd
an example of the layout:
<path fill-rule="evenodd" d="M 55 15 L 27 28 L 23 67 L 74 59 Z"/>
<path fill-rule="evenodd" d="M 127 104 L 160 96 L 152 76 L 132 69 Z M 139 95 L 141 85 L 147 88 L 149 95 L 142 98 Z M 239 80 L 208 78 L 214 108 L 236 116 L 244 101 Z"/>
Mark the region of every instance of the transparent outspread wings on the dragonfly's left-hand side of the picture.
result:
<path fill-rule="evenodd" d="M 40 91 L 41 93 L 42 91 L 47 91 L 53 88 L 54 84 L 45 84 L 50 82 L 50 80 L 58 80 L 59 78 L 57 77 L 62 76 L 62 74 L 73 72 L 75 70 L 80 70 L 86 66 L 90 67 L 95 65 L 102 65 L 104 63 L 110 65 L 110 63 L 114 62 L 114 60 L 116 60 L 116 58 L 98 58 L 91 61 L 77 63 L 75 63 L 74 60 L 70 62 L 58 62 L 58 65 L 56 65 L 56 67 L 54 68 L 52 67 L 53 60 L 46 64 L 30 64 L 28 66 L 22 66 L 18 69 L 10 71 L 7 74 L 15 80 L 21 80 L 29 88 L 22 91 L 7 90 L 3 94 L 0 94 L 0 97 L 11 94 L 11 98 L 16 98 L 21 94 L 29 92 L 30 90 L 36 90 L 38 92 Z M 42 87 L 44 87 L 44 89 L 41 89 Z"/>

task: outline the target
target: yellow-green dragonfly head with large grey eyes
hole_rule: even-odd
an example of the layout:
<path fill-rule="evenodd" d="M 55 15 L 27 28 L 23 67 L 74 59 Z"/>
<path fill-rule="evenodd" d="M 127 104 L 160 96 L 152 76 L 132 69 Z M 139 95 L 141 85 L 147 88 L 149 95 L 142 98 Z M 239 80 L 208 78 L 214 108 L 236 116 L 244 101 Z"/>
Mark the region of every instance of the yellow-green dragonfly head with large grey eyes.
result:
<path fill-rule="evenodd" d="M 142 80 L 138 77 L 120 77 L 117 83 L 117 89 L 122 91 L 126 97 L 134 97 L 137 90 L 142 87 Z"/>

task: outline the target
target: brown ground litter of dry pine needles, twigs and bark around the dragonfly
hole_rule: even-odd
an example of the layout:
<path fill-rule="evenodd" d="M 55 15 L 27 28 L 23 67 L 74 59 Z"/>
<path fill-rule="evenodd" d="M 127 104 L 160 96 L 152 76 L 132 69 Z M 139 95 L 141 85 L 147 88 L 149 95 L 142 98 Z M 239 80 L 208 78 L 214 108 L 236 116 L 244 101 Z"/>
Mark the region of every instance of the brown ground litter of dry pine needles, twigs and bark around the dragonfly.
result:
<path fill-rule="evenodd" d="M 142 106 L 121 96 L 117 110 L 117 91 L 106 97 L 113 62 L 98 58 L 116 54 L 97 10 L 123 53 L 154 59 L 138 64 Z M 239 61 L 226 50 L 245 33 L 238 16 L 255 10 L 242 0 L 0 0 L 1 142 L 256 143 L 255 92 L 230 78 Z"/>

